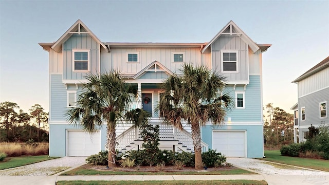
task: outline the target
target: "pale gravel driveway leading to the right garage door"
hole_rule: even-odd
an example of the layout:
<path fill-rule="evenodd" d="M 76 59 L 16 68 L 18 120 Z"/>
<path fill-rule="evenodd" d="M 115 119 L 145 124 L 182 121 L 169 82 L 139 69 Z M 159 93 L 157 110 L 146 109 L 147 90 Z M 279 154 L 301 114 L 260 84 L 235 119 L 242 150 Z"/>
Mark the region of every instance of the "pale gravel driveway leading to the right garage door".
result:
<path fill-rule="evenodd" d="M 318 175 L 329 175 L 328 172 L 291 167 L 289 165 L 277 164 L 259 159 L 228 157 L 226 161 L 233 164 L 235 167 L 268 175 L 311 175 L 314 173 Z"/>

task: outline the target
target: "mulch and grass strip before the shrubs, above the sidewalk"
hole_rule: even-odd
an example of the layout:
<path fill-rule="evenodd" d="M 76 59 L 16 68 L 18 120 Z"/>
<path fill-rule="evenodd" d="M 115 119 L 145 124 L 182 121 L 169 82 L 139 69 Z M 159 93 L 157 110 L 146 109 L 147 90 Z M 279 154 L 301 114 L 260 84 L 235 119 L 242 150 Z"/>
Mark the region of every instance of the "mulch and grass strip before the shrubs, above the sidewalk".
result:
<path fill-rule="evenodd" d="M 194 168 L 184 168 L 182 170 L 168 171 L 165 167 L 162 170 L 152 167 L 148 170 L 136 170 L 136 169 L 105 169 L 99 168 L 100 166 L 95 165 L 83 165 L 71 171 L 65 172 L 61 175 L 236 175 L 236 174 L 255 174 L 246 170 L 242 170 L 236 167 L 231 168 L 218 168 L 208 169 L 207 171 L 196 171 Z M 102 167 L 102 166 L 101 166 Z M 98 169 L 97 169 L 98 168 Z M 167 168 L 167 169 L 166 169 Z"/>

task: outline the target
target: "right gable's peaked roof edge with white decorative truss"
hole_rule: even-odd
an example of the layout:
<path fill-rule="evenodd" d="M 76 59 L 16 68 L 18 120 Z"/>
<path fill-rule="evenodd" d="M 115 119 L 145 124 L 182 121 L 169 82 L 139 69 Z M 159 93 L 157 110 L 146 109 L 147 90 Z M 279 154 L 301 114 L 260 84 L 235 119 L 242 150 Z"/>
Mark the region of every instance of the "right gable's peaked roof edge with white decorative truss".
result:
<path fill-rule="evenodd" d="M 229 32 L 227 32 L 227 30 L 229 30 Z M 202 53 L 204 53 L 208 48 L 209 46 L 214 43 L 221 35 L 223 34 L 228 34 L 228 35 L 238 35 L 241 37 L 241 39 L 246 42 L 249 47 L 251 48 L 251 50 L 253 52 L 256 52 L 260 49 L 260 47 L 254 43 L 250 38 L 249 36 L 244 33 L 233 21 L 230 21 L 229 23 L 227 23 L 227 25 L 220 31 L 216 34 L 216 36 L 214 36 L 214 38 L 202 49 Z"/>

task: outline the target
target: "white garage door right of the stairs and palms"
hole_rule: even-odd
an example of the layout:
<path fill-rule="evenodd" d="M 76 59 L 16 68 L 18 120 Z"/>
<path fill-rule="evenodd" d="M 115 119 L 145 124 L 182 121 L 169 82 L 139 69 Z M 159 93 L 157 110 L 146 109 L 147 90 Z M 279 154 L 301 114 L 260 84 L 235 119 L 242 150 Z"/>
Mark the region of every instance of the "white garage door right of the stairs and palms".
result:
<path fill-rule="evenodd" d="M 245 132 L 213 132 L 213 150 L 221 152 L 226 157 L 246 157 Z"/>

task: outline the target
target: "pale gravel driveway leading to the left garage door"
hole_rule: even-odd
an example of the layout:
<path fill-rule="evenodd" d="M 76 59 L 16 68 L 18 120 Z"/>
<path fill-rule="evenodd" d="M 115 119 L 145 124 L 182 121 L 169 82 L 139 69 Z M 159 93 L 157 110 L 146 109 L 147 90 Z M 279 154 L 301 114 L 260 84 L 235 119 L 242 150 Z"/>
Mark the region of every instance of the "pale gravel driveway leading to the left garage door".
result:
<path fill-rule="evenodd" d="M 17 167 L 14 169 L 6 169 L 0 171 L 0 175 L 26 175 L 26 176 L 43 176 L 53 175 L 72 167 L 85 164 L 86 157 L 61 157 L 51 159 L 34 164 Z"/>

